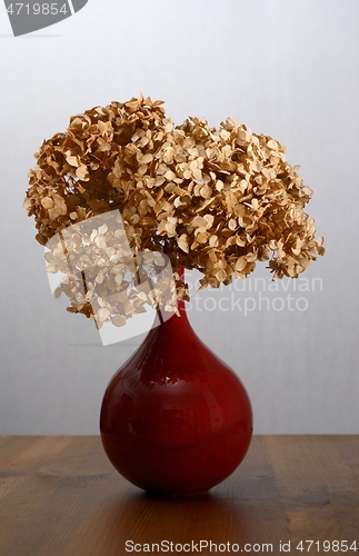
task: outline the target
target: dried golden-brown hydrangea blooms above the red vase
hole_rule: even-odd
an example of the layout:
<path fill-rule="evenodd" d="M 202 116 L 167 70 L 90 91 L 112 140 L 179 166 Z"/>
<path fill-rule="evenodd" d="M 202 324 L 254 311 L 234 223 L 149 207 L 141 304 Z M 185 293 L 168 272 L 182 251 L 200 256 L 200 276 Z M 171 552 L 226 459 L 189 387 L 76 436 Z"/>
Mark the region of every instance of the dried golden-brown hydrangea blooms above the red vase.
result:
<path fill-rule="evenodd" d="M 188 299 L 176 274 L 180 265 L 203 275 L 202 288 L 219 287 L 246 278 L 258 260 L 269 261 L 273 278 L 296 278 L 323 254 L 303 210 L 312 191 L 286 161 L 285 147 L 231 119 L 219 129 L 198 118 L 174 127 L 162 103 L 140 96 L 97 107 L 43 142 L 24 201 L 41 245 L 119 210 L 133 255 L 160 251 L 169 258 L 179 299 Z M 118 265 L 116 256 L 111 261 L 116 235 L 108 234 L 104 244 L 99 236 L 94 230 L 92 242 L 97 237 L 102 245 L 110 272 Z M 53 248 L 49 271 L 60 269 L 60 258 Z M 70 310 L 93 318 L 88 291 L 77 300 L 69 284 L 62 289 Z M 116 317 L 111 310 L 102 311 L 103 320 Z"/>

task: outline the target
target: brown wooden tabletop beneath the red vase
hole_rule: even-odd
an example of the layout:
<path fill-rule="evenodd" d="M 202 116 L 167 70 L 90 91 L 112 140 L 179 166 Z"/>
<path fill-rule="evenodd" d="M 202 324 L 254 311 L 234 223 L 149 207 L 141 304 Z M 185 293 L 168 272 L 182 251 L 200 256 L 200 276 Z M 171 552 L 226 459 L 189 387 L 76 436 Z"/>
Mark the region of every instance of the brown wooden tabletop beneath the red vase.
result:
<path fill-rule="evenodd" d="M 359 436 L 256 436 L 230 478 L 189 498 L 127 483 L 99 437 L 0 437 L 1 556 L 241 552 L 359 555 Z"/>

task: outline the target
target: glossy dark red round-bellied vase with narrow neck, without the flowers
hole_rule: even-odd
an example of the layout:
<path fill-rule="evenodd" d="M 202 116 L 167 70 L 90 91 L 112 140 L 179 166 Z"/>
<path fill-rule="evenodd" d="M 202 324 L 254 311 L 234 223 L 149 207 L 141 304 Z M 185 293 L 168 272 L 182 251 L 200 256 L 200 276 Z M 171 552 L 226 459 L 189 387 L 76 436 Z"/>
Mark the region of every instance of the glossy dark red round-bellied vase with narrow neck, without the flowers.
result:
<path fill-rule="evenodd" d="M 163 495 L 206 493 L 240 464 L 252 411 L 237 375 L 198 338 L 183 306 L 111 379 L 100 429 L 116 469 Z"/>

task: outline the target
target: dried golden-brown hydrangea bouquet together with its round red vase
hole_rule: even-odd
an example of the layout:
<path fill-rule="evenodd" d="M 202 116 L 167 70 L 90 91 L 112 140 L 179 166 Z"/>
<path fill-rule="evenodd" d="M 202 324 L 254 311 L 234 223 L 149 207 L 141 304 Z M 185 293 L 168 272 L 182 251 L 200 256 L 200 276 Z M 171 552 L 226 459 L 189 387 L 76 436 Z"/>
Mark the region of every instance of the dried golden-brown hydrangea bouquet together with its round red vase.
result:
<path fill-rule="evenodd" d="M 297 278 L 323 254 L 303 210 L 311 190 L 285 152 L 231 119 L 219 129 L 198 118 L 176 127 L 162 101 L 140 96 L 72 117 L 37 155 L 24 205 L 49 248 L 48 271 L 66 274 L 58 292 L 68 310 L 98 328 L 121 327 L 146 306 L 171 315 L 102 404 L 104 449 L 146 490 L 206 492 L 248 449 L 247 393 L 190 328 L 181 269 L 217 288 L 246 278 L 258 260 L 273 278 Z M 156 281 L 167 261 L 174 279 Z M 140 279 L 143 268 L 154 286 Z"/>

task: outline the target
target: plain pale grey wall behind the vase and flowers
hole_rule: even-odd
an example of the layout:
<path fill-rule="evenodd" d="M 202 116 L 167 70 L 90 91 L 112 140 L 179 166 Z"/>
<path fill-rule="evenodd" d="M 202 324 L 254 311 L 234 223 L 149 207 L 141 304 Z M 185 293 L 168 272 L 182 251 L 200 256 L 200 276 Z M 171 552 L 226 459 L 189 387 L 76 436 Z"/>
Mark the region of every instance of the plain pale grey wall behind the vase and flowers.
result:
<path fill-rule="evenodd" d="M 190 319 L 245 383 L 256 433 L 359 433 L 358 29 L 357 0 L 89 0 L 14 39 L 0 6 L 1 435 L 97 434 L 104 388 L 139 341 L 102 347 L 90 321 L 51 298 L 21 205 L 44 138 L 140 91 L 166 100 L 176 123 L 236 117 L 301 165 L 326 256 L 297 291 L 268 292 L 258 267 L 251 290 L 200 294 Z M 253 291 L 259 277 L 266 290 Z M 259 290 L 270 310 L 259 310 Z M 276 310 L 288 294 L 307 309 Z M 221 311 L 231 295 L 256 310 Z"/>

